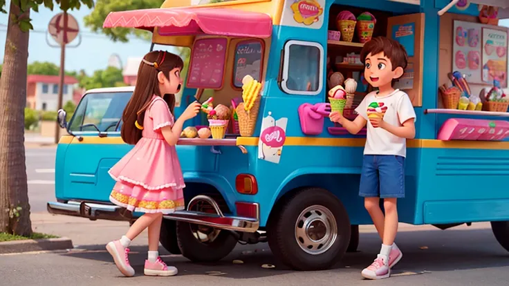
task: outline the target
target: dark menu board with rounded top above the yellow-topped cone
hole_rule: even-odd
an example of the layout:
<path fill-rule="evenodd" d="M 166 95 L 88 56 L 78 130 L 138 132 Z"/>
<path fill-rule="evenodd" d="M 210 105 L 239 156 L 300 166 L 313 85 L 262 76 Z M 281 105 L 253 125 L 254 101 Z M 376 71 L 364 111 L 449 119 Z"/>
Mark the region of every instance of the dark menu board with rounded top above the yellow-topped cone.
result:
<path fill-rule="evenodd" d="M 233 85 L 242 87 L 242 79 L 251 75 L 256 80 L 261 79 L 261 61 L 263 46 L 259 40 L 241 41 L 235 48 L 235 65 L 233 68 Z"/>

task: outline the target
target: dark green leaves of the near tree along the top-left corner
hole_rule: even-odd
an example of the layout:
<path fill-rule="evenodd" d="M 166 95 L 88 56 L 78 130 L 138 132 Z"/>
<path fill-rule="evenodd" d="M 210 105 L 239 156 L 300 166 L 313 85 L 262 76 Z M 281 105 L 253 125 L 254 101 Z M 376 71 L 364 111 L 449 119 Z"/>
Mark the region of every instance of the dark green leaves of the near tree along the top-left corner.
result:
<path fill-rule="evenodd" d="M 59 6 L 60 10 L 74 10 L 80 9 L 82 4 L 86 5 L 89 8 L 93 7 L 93 0 L 11 0 L 16 6 L 19 7 L 20 14 L 19 15 L 11 15 L 11 21 L 14 21 L 19 28 L 23 32 L 28 32 L 28 30 L 33 30 L 32 19 L 26 16 L 26 12 L 29 9 L 34 10 L 35 12 L 39 12 L 39 6 L 43 5 L 44 7 L 53 11 L 55 7 L 55 3 Z M 6 0 L 0 0 L 0 12 L 7 13 L 6 10 Z"/>

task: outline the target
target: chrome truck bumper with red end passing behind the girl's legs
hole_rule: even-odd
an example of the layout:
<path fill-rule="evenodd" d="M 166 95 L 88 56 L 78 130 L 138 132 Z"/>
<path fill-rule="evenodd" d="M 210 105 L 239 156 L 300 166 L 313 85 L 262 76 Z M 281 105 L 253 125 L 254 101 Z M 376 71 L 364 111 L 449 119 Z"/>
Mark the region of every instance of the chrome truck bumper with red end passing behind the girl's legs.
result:
<path fill-rule="evenodd" d="M 169 220 L 178 220 L 181 222 L 190 222 L 197 225 L 206 225 L 216 229 L 228 229 L 231 231 L 255 232 L 259 228 L 259 208 L 257 208 L 256 218 L 246 218 L 239 216 L 224 215 L 218 204 L 208 196 L 196 196 L 189 202 L 192 207 L 196 202 L 205 201 L 209 203 L 216 213 L 204 213 L 201 211 L 175 211 L 165 218 Z M 258 207 L 258 206 L 257 206 Z M 66 216 L 80 216 L 90 220 L 130 220 L 129 216 L 124 216 L 124 208 L 113 204 L 100 204 L 92 202 L 48 202 L 48 212 Z"/>

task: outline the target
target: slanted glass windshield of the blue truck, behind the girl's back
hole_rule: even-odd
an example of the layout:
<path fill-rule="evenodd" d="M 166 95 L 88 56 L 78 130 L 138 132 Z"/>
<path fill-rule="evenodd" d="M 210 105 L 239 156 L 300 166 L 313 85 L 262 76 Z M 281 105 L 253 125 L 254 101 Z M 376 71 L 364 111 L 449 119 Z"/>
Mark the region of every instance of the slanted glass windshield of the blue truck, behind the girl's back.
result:
<path fill-rule="evenodd" d="M 115 132 L 131 92 L 84 95 L 69 124 L 72 132 Z"/>

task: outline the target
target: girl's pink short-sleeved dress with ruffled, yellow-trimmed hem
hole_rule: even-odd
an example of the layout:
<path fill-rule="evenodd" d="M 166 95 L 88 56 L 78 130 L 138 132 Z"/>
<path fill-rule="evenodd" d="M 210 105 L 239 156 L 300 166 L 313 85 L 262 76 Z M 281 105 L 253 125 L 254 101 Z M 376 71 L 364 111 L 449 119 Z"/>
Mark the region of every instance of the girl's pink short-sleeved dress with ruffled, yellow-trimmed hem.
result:
<path fill-rule="evenodd" d="M 173 126 L 166 102 L 156 95 L 145 112 L 142 138 L 109 170 L 117 183 L 109 199 L 129 211 L 172 213 L 184 209 L 185 187 L 175 146 L 160 128 Z"/>

